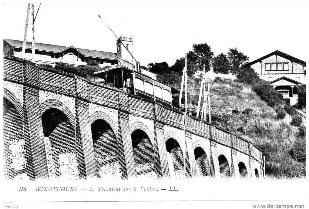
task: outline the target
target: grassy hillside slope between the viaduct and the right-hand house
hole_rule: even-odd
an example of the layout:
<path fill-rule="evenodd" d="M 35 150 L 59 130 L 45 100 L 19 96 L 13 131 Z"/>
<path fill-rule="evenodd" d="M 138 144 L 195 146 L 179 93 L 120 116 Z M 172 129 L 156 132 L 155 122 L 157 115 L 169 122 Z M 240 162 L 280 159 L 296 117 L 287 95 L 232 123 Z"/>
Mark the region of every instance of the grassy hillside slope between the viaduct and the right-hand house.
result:
<path fill-rule="evenodd" d="M 200 82 L 200 79 L 188 79 L 191 110 L 196 109 Z M 269 177 L 306 176 L 306 161 L 295 161 L 291 154 L 294 142 L 300 138 L 298 127 L 290 125 L 291 116 L 287 114 L 285 118 L 278 119 L 275 110 L 261 100 L 248 84 L 234 80 L 211 84 L 211 95 L 224 92 L 235 93 L 211 97 L 212 106 L 230 105 L 212 108 L 212 123 L 260 147 L 265 155 Z"/>

